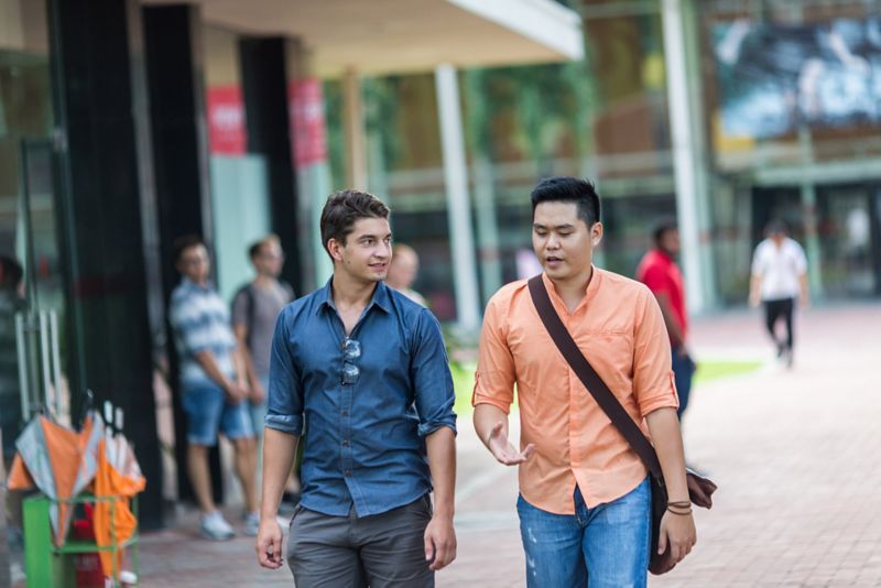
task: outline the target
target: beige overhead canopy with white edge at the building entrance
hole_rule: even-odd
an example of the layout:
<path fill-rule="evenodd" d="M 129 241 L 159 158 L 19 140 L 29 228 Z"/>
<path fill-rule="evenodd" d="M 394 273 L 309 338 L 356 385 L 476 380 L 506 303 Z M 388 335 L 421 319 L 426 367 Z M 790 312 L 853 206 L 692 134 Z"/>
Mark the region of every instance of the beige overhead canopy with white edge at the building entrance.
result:
<path fill-rule="evenodd" d="M 143 0 L 146 4 L 180 0 Z M 552 0 L 194 0 L 203 19 L 244 34 L 298 37 L 315 72 L 424 72 L 577 59 L 578 15 Z"/>

